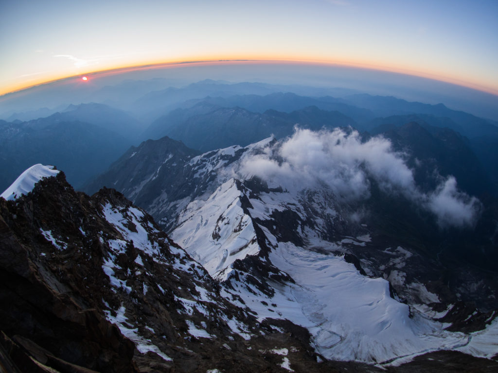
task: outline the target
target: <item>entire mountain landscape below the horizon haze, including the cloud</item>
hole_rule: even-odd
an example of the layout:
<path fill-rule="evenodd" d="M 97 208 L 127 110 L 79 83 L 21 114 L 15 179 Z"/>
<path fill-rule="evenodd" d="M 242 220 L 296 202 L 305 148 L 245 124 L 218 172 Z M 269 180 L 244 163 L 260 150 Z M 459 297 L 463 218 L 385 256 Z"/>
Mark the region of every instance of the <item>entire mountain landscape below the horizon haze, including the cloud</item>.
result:
<path fill-rule="evenodd" d="M 498 371 L 496 122 L 87 83 L 0 121 L 0 372 Z"/>

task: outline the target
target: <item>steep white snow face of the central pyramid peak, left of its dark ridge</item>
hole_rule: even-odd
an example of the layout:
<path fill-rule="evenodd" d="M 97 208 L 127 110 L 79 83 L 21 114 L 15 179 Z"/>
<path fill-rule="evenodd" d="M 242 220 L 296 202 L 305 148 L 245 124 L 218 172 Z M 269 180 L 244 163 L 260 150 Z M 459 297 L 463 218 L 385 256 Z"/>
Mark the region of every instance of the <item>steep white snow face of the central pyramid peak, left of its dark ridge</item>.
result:
<path fill-rule="evenodd" d="M 250 216 L 245 214 L 235 179 L 218 187 L 206 201 L 194 200 L 182 211 L 172 239 L 209 274 L 226 280 L 237 259 L 259 252 Z"/>

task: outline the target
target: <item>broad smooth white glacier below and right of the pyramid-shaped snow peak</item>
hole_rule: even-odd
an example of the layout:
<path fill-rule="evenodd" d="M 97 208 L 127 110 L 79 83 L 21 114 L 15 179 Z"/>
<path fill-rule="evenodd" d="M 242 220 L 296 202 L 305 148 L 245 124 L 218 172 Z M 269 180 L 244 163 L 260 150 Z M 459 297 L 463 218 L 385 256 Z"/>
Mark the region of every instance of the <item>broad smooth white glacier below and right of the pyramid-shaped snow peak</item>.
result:
<path fill-rule="evenodd" d="M 385 362 L 467 340 L 441 323 L 410 318 L 408 305 L 389 296 L 386 280 L 361 275 L 342 257 L 278 243 L 269 258 L 296 282 L 285 292 L 303 318 L 290 320 L 310 330 L 317 351 L 328 359 Z M 281 312 L 283 318 L 295 315 Z"/>

